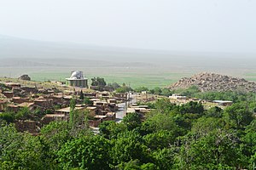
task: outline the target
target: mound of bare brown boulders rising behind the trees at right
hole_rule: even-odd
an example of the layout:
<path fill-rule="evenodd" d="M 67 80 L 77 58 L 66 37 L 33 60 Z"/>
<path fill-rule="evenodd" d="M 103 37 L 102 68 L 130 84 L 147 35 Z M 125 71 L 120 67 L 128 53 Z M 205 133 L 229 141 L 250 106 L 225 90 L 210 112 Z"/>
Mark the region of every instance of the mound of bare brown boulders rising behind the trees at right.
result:
<path fill-rule="evenodd" d="M 256 92 L 256 83 L 248 82 L 243 78 L 223 76 L 215 73 L 200 73 L 193 77 L 184 77 L 178 82 L 172 84 L 170 89 L 189 88 L 197 86 L 201 92 L 207 91 L 236 91 Z"/>

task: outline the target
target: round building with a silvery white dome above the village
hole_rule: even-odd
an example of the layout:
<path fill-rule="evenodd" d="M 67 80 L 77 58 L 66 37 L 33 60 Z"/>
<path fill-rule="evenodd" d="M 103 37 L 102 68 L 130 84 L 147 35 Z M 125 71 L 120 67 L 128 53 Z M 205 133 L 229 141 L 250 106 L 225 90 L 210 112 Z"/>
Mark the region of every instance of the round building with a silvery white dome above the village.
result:
<path fill-rule="evenodd" d="M 71 77 L 66 78 L 67 84 L 73 87 L 87 88 L 88 79 L 84 78 L 82 71 L 72 71 Z"/>

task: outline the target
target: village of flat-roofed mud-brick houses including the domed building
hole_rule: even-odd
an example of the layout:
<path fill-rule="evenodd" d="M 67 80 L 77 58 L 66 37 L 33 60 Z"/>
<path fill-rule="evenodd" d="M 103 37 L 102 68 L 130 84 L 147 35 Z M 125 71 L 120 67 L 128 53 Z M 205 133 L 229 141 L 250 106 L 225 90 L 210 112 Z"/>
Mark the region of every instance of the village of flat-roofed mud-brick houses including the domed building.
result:
<path fill-rule="evenodd" d="M 75 111 L 87 111 L 88 122 L 92 129 L 96 129 L 103 121 L 120 122 L 129 113 L 145 116 L 150 109 L 147 102 L 167 98 L 165 96 L 142 93 L 116 93 L 113 87 L 98 82 L 88 86 L 88 79 L 82 71 L 73 71 L 66 82 L 49 82 L 48 85 L 28 83 L 30 77 L 20 77 L 20 82 L 0 82 L 0 114 L 9 111 L 15 115 L 15 127 L 20 132 L 34 135 L 40 133 L 41 127 L 53 121 L 68 121 L 70 116 L 70 102 L 75 99 Z M 172 94 L 168 99 L 174 104 L 185 104 L 189 101 L 202 102 L 207 107 L 232 105 L 232 101 L 202 101 L 188 99 L 180 94 Z M 138 105 L 142 104 L 143 105 Z M 29 114 L 33 113 L 33 114 Z M 19 115 L 20 116 L 17 116 Z M 11 118 L 9 118 L 11 119 Z"/>

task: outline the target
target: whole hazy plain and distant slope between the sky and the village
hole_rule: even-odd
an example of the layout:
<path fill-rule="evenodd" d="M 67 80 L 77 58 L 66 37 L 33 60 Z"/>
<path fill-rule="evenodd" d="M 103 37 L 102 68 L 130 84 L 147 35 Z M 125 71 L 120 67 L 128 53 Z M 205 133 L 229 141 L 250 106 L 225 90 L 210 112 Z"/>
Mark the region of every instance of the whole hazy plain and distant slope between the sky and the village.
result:
<path fill-rule="evenodd" d="M 34 81 L 65 81 L 71 71 L 132 88 L 166 87 L 182 77 L 214 72 L 256 81 L 255 54 L 158 51 L 42 42 L 0 36 L 0 77 L 27 74 Z"/>

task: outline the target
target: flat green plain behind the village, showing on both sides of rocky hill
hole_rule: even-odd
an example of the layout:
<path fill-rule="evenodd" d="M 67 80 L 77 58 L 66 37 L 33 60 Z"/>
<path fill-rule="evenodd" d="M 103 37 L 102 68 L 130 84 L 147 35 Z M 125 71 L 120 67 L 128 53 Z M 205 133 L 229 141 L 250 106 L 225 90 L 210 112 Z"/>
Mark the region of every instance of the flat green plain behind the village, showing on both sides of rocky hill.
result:
<path fill-rule="evenodd" d="M 164 88 L 173 82 L 177 82 L 182 77 L 190 77 L 199 73 L 195 70 L 171 70 L 155 67 L 0 67 L 0 77 L 20 77 L 22 74 L 28 74 L 33 81 L 66 81 L 65 78 L 70 77 L 71 71 L 76 70 L 84 71 L 84 77 L 89 79 L 89 83 L 91 77 L 104 77 L 107 83 L 118 82 L 122 84 L 124 82 L 126 85 L 130 85 L 131 88 L 140 86 Z M 248 81 L 256 81 L 256 72 L 254 71 L 226 71 L 220 73 L 233 77 L 243 77 Z"/>

